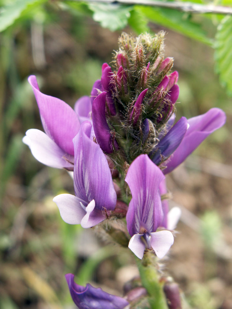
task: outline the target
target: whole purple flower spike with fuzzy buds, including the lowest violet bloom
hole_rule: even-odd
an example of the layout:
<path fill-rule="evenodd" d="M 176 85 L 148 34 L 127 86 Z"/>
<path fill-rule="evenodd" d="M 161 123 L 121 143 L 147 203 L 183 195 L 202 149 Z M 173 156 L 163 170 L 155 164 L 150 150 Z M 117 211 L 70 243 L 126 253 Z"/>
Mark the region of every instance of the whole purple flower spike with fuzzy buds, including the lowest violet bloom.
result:
<path fill-rule="evenodd" d="M 171 72 L 173 59 L 162 55 L 163 36 L 123 33 L 112 68 L 103 64 L 101 80 L 74 110 L 41 93 L 35 76 L 28 78 L 45 133 L 30 129 L 23 142 L 41 163 L 73 171 L 75 196 L 54 197 L 62 219 L 89 228 L 126 217 L 128 247 L 139 259 L 145 249 L 162 258 L 174 242 L 171 231 L 180 210 L 169 211 L 167 200 L 161 200 L 167 192 L 164 175 L 226 119 L 223 111 L 212 108 L 174 124 L 178 72 Z M 72 274 L 66 278 L 80 309 L 128 305 L 89 284 L 78 286 Z"/>

